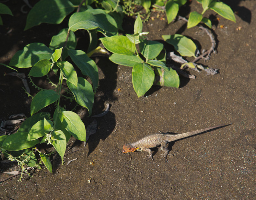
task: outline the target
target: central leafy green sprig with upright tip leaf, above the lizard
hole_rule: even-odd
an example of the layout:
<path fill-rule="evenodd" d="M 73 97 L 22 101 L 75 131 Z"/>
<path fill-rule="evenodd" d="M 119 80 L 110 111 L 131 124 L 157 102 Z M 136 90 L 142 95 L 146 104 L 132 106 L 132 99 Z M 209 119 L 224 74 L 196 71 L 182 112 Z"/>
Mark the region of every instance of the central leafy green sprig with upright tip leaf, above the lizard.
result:
<path fill-rule="evenodd" d="M 138 97 L 144 95 L 153 83 L 177 88 L 180 84 L 177 72 L 165 65 L 163 44 L 143 39 L 142 36 L 147 34 L 142 32 L 142 20 L 138 16 L 133 35 L 100 38 L 105 48 L 113 53 L 109 58 L 113 63 L 133 67 L 132 82 Z M 139 44 L 143 58 L 139 56 L 136 44 Z"/>

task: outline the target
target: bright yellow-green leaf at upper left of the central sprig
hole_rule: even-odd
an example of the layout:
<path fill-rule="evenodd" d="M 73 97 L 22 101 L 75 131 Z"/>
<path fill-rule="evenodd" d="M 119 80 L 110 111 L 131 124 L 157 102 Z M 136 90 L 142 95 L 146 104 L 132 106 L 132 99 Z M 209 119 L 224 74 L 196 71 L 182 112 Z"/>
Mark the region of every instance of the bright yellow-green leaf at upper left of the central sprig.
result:
<path fill-rule="evenodd" d="M 130 40 L 123 35 L 102 37 L 99 38 L 99 40 L 102 42 L 105 48 L 111 51 L 112 53 L 122 55 L 134 55 L 134 44 L 131 43 Z"/>

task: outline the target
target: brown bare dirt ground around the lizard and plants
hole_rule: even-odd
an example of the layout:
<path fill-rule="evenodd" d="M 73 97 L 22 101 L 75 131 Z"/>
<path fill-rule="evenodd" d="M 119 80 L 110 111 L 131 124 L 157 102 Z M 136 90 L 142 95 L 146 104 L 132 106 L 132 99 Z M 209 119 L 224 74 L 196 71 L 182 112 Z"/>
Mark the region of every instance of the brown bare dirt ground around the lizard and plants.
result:
<path fill-rule="evenodd" d="M 9 3 L 15 17 L 3 16 L 1 63 L 8 64 L 11 56 L 29 43 L 49 45 L 52 35 L 67 26 L 66 21 L 57 28 L 42 24 L 23 33 L 26 14 L 20 12 L 22 2 Z M 219 69 L 219 74 L 206 76 L 189 70 L 196 79 L 181 77 L 180 88 L 153 86 L 138 98 L 132 86 L 132 68 L 97 57 L 99 90 L 93 115 L 101 113 L 107 103 L 111 108 L 107 115 L 96 119 L 96 134 L 90 136 L 85 149 L 66 155 L 64 165 L 60 159 L 53 161 L 53 174 L 43 167 L 22 182 L 17 176 L 1 183 L 0 199 L 256 199 L 256 4 L 238 0 L 228 4 L 236 12 L 237 23 L 217 16 L 220 20 L 213 25 L 217 54 L 206 63 L 201 61 Z M 201 12 L 202 8 L 192 1 L 191 11 L 194 10 Z M 184 12 L 189 13 L 189 7 Z M 206 15 L 216 19 L 213 12 Z M 143 30 L 149 31 L 150 40 L 179 33 L 196 41 L 201 51 L 211 45 L 208 36 L 197 27 L 186 29 L 183 21 L 168 25 L 161 16 L 144 23 Z M 79 40 L 83 42 L 82 37 Z M 1 67 L 0 72 L 0 118 L 5 120 L 18 113 L 29 116 L 31 99 L 21 88 L 21 80 L 4 76 L 4 72 L 12 72 L 7 68 Z M 42 80 L 38 83 L 47 84 Z M 36 90 L 31 85 L 30 88 L 35 95 Z M 93 120 L 84 108 L 78 108 L 77 113 L 85 125 Z M 168 158 L 168 163 L 161 159 L 162 152 L 157 148 L 154 160 L 148 161 L 146 152 L 122 153 L 125 143 L 158 130 L 184 133 L 224 123 L 233 124 L 171 142 L 169 150 L 174 156 Z M 84 145 L 74 138 L 69 144 L 67 150 L 71 150 L 67 152 Z M 77 160 L 66 165 L 74 158 Z M 90 165 L 93 160 L 97 162 Z M 9 176 L 3 172 L 18 169 L 15 164 L 1 163 L 0 179 Z"/>

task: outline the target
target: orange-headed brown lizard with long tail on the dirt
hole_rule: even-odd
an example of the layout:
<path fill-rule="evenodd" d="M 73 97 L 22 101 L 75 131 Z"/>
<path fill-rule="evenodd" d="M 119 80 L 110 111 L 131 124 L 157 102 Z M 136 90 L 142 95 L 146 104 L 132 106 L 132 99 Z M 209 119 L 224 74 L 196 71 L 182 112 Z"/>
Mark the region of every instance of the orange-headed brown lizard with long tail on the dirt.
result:
<path fill-rule="evenodd" d="M 163 157 L 165 159 L 165 162 L 168 162 L 166 157 L 167 157 L 167 155 L 170 155 L 170 154 L 168 154 L 169 150 L 167 148 L 167 145 L 169 142 L 179 140 L 179 139 L 182 139 L 185 137 L 189 137 L 192 135 L 196 135 L 199 133 L 203 133 L 203 132 L 206 132 L 211 129 L 231 125 L 231 124 L 216 125 L 216 126 L 212 126 L 209 128 L 200 129 L 197 131 L 176 134 L 176 135 L 170 135 L 168 133 L 156 133 L 156 134 L 147 135 L 147 136 L 143 137 L 142 139 L 138 140 L 137 142 L 128 143 L 128 144 L 123 145 L 122 153 L 128 153 L 128 152 L 134 152 L 134 151 L 147 151 L 148 152 L 147 160 L 150 158 L 153 159 L 152 151 L 150 148 L 154 148 L 154 147 L 161 145 L 160 149 L 164 152 Z"/>

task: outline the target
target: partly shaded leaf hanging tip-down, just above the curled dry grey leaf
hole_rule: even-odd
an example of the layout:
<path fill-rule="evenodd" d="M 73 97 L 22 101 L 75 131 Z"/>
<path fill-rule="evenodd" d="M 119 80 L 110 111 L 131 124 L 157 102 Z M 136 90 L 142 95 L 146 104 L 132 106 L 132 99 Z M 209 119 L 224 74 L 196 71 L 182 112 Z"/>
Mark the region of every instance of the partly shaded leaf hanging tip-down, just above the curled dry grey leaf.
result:
<path fill-rule="evenodd" d="M 89 82 L 82 78 L 78 77 L 77 87 L 67 81 L 67 86 L 75 96 L 76 102 L 88 109 L 89 115 L 92 114 L 92 106 L 94 102 L 94 93 L 92 85 Z"/>

